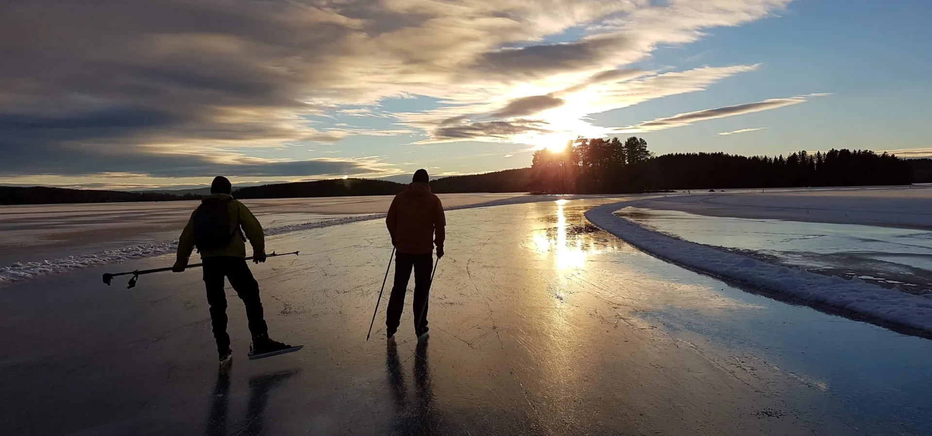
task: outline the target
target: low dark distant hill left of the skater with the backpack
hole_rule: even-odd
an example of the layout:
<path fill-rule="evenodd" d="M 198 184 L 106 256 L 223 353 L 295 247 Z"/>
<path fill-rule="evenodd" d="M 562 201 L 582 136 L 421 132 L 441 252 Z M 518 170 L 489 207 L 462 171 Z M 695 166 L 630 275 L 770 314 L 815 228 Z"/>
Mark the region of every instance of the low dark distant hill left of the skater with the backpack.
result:
<path fill-rule="evenodd" d="M 42 186 L 0 186 L 0 205 L 48 205 L 67 203 L 168 202 L 193 196 L 165 193 L 70 190 Z"/>

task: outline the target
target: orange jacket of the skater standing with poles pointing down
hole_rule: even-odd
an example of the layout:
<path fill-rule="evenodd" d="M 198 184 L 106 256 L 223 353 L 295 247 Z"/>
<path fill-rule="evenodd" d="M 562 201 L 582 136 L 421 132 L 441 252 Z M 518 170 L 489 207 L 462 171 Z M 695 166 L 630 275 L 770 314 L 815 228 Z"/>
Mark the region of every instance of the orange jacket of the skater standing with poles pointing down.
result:
<path fill-rule="evenodd" d="M 427 183 L 411 183 L 395 195 L 385 224 L 399 253 L 426 254 L 433 252 L 433 244 L 444 246 L 444 205 Z"/>

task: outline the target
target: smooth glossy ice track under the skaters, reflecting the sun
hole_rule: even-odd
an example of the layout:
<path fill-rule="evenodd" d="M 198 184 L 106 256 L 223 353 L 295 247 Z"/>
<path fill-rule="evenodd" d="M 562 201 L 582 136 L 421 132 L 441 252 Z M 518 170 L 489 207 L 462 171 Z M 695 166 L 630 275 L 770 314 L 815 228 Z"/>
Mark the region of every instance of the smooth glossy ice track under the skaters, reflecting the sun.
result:
<path fill-rule="evenodd" d="M 605 202 L 449 211 L 421 346 L 404 330 L 410 298 L 397 348 L 380 328 L 385 301 L 364 341 L 391 253 L 382 220 L 271 236 L 269 250 L 302 255 L 254 267 L 270 332 L 307 347 L 246 361 L 244 313 L 228 290 L 228 374 L 216 369 L 198 271 L 144 276 L 132 290 L 100 283 L 171 255 L 7 284 L 0 327 L 16 334 L 0 349 L 0 434 L 932 428 L 932 342 L 652 258 L 583 218 Z"/>

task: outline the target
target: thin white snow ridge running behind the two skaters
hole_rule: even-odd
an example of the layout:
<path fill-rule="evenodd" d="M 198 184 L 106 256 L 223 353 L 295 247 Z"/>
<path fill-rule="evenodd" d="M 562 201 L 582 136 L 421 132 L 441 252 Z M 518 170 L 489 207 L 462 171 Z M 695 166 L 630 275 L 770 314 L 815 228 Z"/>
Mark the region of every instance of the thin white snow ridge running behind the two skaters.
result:
<path fill-rule="evenodd" d="M 488 203 L 477 205 L 459 205 L 445 207 L 445 210 L 470 209 L 475 207 L 487 207 L 492 205 L 514 205 L 519 203 L 533 203 L 540 201 L 553 200 L 553 197 L 547 196 L 518 196 L 502 200 L 495 200 Z M 292 231 L 307 231 L 311 229 L 322 229 L 324 227 L 339 226 L 353 222 L 369 221 L 372 219 L 385 218 L 386 214 L 361 215 L 357 217 L 345 217 L 325 219 L 322 221 L 311 221 L 300 224 L 289 224 L 279 227 L 271 227 L 265 230 L 267 236 Z M 117 263 L 131 258 L 149 258 L 172 253 L 178 249 L 178 240 L 162 241 L 150 244 L 139 244 L 117 250 L 107 250 L 101 253 L 95 253 L 82 256 L 69 256 L 67 258 L 54 258 L 43 260 L 41 262 L 17 262 L 8 267 L 0 267 L 0 284 L 15 280 L 25 280 L 56 272 L 72 271 L 77 268 L 86 268 L 94 265 L 103 265 L 107 263 Z"/>

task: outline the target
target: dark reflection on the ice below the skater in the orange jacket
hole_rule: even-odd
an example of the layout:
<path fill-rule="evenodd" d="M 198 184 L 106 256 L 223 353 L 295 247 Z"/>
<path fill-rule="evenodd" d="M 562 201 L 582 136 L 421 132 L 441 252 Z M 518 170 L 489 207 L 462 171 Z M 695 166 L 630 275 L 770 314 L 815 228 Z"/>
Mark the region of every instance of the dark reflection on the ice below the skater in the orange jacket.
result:
<path fill-rule="evenodd" d="M 431 434 L 434 427 L 432 419 L 433 390 L 431 374 L 427 364 L 427 343 L 418 341 L 415 348 L 414 382 L 415 398 L 408 401 L 404 372 L 398 360 L 398 347 L 391 344 L 386 350 L 385 367 L 388 371 L 389 385 L 395 402 L 395 429 L 397 434 Z"/>

